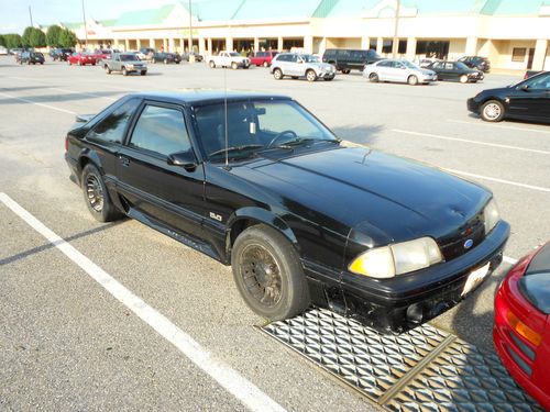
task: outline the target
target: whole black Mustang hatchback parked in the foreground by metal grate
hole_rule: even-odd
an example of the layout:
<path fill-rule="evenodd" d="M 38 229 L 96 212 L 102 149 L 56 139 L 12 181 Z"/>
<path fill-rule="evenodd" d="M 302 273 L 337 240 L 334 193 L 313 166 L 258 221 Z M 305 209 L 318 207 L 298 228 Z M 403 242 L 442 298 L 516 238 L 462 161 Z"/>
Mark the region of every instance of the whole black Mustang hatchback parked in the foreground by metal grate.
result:
<path fill-rule="evenodd" d="M 138 93 L 77 120 L 66 160 L 91 214 L 128 215 L 231 265 L 270 320 L 314 304 L 399 333 L 502 261 L 509 225 L 490 191 L 345 147 L 290 98 Z"/>

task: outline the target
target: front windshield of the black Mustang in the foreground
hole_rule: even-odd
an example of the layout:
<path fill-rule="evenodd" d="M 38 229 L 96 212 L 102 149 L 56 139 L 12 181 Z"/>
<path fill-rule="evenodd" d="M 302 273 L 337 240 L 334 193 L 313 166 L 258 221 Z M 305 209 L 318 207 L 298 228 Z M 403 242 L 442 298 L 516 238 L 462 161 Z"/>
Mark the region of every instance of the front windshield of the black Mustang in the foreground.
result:
<path fill-rule="evenodd" d="M 339 140 L 301 105 L 292 100 L 246 100 L 195 108 L 205 155 L 211 162 L 250 157 L 271 148 Z M 227 124 L 227 136 L 226 136 Z M 227 137 L 227 145 L 226 145 Z"/>

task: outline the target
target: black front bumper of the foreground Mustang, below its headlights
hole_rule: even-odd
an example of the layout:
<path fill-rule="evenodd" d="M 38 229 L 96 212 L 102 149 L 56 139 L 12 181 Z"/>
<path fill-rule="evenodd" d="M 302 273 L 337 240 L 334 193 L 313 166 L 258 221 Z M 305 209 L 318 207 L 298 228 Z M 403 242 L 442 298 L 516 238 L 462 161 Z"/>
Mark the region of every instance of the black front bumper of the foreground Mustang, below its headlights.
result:
<path fill-rule="evenodd" d="M 340 291 L 326 292 L 328 307 L 383 333 L 403 333 L 416 327 L 468 297 L 471 291 L 461 294 L 473 270 L 488 264 L 484 280 L 491 276 L 503 259 L 509 231 L 509 225 L 501 221 L 483 243 L 466 254 L 392 279 L 344 271 Z"/>

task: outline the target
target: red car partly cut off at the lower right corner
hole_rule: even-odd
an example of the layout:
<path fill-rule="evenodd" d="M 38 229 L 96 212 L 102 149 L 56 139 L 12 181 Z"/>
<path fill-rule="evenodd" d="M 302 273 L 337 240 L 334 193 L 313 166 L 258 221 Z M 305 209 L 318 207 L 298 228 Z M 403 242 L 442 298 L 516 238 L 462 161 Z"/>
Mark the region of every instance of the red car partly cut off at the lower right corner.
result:
<path fill-rule="evenodd" d="M 508 272 L 495 298 L 493 342 L 514 379 L 550 411 L 550 242 Z"/>

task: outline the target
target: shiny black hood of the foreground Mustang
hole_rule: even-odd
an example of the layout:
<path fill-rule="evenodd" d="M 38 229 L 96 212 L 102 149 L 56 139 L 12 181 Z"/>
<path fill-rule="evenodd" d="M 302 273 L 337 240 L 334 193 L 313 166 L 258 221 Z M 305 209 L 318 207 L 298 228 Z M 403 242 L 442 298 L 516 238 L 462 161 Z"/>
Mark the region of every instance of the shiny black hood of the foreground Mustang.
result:
<path fill-rule="evenodd" d="M 491 198 L 486 189 L 439 169 L 359 147 L 264 158 L 235 169 L 295 213 L 316 211 L 349 227 L 367 222 L 385 241 L 444 236 Z"/>

